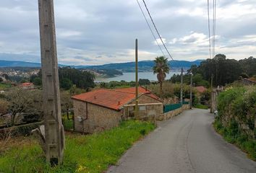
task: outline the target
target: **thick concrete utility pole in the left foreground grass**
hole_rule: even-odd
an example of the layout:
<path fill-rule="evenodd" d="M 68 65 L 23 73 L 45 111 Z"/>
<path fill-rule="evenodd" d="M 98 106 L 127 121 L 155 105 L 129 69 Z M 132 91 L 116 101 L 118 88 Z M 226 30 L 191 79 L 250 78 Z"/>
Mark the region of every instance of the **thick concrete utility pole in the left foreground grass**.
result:
<path fill-rule="evenodd" d="M 43 114 L 46 161 L 61 164 L 64 151 L 64 129 L 61 123 L 54 1 L 38 0 L 40 49 L 43 78 Z"/>

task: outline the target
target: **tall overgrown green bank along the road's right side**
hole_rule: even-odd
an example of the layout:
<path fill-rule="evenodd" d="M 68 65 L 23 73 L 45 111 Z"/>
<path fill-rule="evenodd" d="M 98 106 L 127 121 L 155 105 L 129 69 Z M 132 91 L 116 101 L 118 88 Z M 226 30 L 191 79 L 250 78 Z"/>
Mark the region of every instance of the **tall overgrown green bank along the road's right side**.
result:
<path fill-rule="evenodd" d="M 218 96 L 216 130 L 256 160 L 256 86 L 230 87 Z"/>

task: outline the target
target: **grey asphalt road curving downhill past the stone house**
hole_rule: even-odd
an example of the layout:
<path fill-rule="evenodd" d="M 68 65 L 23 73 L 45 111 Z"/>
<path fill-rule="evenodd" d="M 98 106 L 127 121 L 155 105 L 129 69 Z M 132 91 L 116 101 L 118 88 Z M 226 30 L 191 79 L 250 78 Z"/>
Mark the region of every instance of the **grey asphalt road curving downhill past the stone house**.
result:
<path fill-rule="evenodd" d="M 256 173 L 256 162 L 223 141 L 208 110 L 187 110 L 132 146 L 108 172 Z"/>

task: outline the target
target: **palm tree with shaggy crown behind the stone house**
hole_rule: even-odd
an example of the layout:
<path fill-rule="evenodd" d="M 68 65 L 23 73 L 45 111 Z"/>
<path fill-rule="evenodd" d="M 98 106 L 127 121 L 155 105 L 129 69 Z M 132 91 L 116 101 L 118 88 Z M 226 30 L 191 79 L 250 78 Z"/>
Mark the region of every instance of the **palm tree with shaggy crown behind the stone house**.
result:
<path fill-rule="evenodd" d="M 166 74 L 169 73 L 168 58 L 164 56 L 156 57 L 155 66 L 153 66 L 153 73 L 157 74 L 158 81 L 160 83 L 160 97 L 162 98 L 163 81 L 166 78 Z"/>

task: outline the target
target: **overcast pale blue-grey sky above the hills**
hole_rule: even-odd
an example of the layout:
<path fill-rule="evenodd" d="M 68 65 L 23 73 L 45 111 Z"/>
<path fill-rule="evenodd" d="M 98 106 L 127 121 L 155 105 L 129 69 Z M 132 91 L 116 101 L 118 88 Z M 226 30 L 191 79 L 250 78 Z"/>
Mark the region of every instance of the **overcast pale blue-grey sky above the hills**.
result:
<path fill-rule="evenodd" d="M 139 2 L 148 17 L 142 0 Z M 174 60 L 209 58 L 207 0 L 145 2 Z M 210 0 L 211 22 L 212 6 Z M 135 38 L 140 61 L 163 56 L 136 0 L 54 0 L 54 10 L 61 64 L 134 61 Z M 217 0 L 217 53 L 236 60 L 256 56 L 255 0 Z M 1 0 L 0 60 L 40 62 L 37 0 Z"/>

